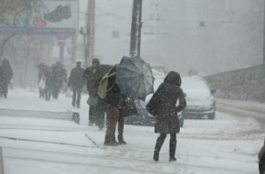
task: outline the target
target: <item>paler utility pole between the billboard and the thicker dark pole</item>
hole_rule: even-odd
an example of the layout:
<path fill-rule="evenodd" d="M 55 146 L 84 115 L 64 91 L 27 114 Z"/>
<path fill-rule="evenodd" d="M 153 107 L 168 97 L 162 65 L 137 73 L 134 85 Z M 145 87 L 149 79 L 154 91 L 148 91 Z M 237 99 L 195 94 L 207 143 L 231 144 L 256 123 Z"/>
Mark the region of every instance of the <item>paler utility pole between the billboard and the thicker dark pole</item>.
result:
<path fill-rule="evenodd" d="M 89 0 L 88 3 L 88 17 L 87 17 L 87 41 L 86 41 L 86 60 L 85 67 L 91 65 L 94 57 L 94 41 L 95 41 L 95 0 Z"/>

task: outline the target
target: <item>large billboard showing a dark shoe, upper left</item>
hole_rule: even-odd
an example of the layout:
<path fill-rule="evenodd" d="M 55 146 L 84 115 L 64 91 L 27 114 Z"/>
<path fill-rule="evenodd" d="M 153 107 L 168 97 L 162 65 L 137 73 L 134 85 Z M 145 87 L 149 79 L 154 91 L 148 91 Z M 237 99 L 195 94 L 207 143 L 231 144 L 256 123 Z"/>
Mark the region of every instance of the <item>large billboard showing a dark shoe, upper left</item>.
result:
<path fill-rule="evenodd" d="M 77 34 L 78 0 L 1 0 L 0 33 Z"/>

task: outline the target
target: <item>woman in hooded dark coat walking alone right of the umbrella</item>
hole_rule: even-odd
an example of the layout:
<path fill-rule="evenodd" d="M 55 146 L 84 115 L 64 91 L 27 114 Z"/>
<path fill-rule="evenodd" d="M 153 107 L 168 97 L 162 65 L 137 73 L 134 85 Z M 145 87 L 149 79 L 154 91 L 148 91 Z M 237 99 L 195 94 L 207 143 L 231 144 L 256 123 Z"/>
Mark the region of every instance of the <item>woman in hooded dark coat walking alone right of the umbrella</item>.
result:
<path fill-rule="evenodd" d="M 156 117 L 155 132 L 160 133 L 153 154 L 153 160 L 156 162 L 159 161 L 160 148 L 162 147 L 167 134 L 170 134 L 169 162 L 176 160 L 176 133 L 178 133 L 180 129 L 177 113 L 186 107 L 181 83 L 182 80 L 178 72 L 168 72 L 163 83 L 160 84 L 160 87 L 154 95 L 152 95 L 153 100 L 151 99 L 150 102 L 153 102 L 148 103 L 158 109 L 154 114 Z M 175 106 L 177 100 L 179 101 L 179 105 Z"/>

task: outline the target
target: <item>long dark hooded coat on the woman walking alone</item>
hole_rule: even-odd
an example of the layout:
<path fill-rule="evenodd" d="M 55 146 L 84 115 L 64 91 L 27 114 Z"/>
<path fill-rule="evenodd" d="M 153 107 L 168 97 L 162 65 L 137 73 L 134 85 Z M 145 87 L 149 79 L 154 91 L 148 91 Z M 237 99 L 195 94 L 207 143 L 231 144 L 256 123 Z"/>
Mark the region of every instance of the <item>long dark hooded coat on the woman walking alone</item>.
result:
<path fill-rule="evenodd" d="M 181 86 L 181 78 L 177 72 L 168 72 L 164 82 L 152 95 L 152 105 L 157 109 L 155 132 L 177 133 L 179 132 L 179 120 L 177 112 L 186 107 L 186 101 Z M 177 100 L 179 105 L 175 106 Z"/>

